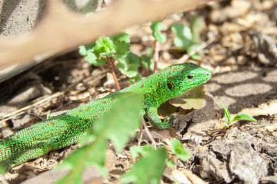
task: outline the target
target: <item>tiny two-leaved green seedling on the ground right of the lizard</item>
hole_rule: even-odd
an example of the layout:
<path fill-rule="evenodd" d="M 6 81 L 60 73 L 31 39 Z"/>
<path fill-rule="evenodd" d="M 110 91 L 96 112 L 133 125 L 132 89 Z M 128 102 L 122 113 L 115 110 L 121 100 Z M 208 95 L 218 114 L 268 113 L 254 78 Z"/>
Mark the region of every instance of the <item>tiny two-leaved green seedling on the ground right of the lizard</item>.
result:
<path fill-rule="evenodd" d="M 234 121 L 240 121 L 240 120 L 254 121 L 254 122 L 257 121 L 256 119 L 253 119 L 251 116 L 249 116 L 249 114 L 243 114 L 243 113 L 236 115 L 231 121 L 231 115 L 228 108 L 223 103 L 221 103 L 221 105 L 224 109 L 224 116 L 225 116 L 224 129 L 229 128 L 230 124 Z"/>

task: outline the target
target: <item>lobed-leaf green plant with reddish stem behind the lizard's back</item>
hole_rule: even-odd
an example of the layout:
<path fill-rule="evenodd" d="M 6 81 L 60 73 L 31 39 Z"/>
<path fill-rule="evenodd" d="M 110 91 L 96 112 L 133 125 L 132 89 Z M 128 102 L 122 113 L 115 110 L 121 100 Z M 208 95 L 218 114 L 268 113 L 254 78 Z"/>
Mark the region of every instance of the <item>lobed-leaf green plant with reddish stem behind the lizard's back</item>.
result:
<path fill-rule="evenodd" d="M 81 45 L 79 53 L 91 65 L 104 65 L 107 63 L 114 77 L 116 88 L 120 90 L 114 64 L 117 61 L 118 70 L 134 81 L 139 80 L 139 70 L 141 58 L 129 51 L 129 34 L 121 33 L 114 37 L 101 37 L 90 45 Z"/>

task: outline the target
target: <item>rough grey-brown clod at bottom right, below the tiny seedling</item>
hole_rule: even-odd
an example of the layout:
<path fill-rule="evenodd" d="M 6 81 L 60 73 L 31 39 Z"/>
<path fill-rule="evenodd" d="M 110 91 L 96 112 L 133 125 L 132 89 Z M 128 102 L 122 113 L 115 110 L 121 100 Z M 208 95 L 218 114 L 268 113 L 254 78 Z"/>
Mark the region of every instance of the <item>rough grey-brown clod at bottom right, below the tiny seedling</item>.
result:
<path fill-rule="evenodd" d="M 213 141 L 210 152 L 201 157 L 200 173 L 206 178 L 209 176 L 205 172 L 217 179 L 222 178 L 226 183 L 235 177 L 244 183 L 258 183 L 267 174 L 267 163 L 258 153 L 256 138 L 241 132 L 237 127 L 225 134 L 224 141 Z"/>

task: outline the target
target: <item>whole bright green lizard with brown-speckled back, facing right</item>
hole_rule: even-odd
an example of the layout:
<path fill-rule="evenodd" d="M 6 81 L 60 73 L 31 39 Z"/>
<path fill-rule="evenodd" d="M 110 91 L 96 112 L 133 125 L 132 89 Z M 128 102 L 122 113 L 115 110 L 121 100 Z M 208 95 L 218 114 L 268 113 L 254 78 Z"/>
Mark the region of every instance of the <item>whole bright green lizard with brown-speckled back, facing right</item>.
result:
<path fill-rule="evenodd" d="M 15 165 L 35 159 L 51 150 L 77 143 L 85 134 L 93 130 L 93 123 L 109 110 L 111 104 L 127 93 L 143 94 L 142 114 L 148 116 L 154 127 L 165 130 L 172 127 L 175 117 L 171 115 L 169 119 L 162 122 L 157 114 L 159 105 L 206 83 L 210 78 L 209 70 L 193 63 L 171 65 L 128 88 L 53 116 L 1 139 L 0 165 L 9 170 Z"/>

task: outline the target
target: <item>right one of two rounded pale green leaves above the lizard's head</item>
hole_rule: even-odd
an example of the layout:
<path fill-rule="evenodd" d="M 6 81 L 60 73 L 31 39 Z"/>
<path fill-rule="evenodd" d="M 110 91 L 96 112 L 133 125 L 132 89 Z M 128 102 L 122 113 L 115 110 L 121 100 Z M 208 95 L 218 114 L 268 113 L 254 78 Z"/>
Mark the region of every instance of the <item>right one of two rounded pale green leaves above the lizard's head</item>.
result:
<path fill-rule="evenodd" d="M 186 50 L 188 45 L 191 43 L 191 39 L 193 38 L 190 28 L 182 23 L 175 23 L 171 26 L 171 30 L 176 34 L 176 38 L 173 43 L 177 46 L 177 48 Z"/>

